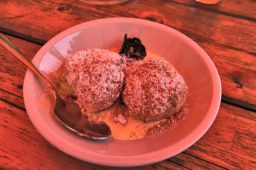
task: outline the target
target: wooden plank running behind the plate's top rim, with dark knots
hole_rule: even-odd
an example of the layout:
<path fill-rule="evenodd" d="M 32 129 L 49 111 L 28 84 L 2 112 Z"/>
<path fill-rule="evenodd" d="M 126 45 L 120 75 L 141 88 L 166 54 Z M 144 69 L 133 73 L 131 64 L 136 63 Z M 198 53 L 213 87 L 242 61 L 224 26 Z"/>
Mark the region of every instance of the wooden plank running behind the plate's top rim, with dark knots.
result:
<path fill-rule="evenodd" d="M 230 4 L 232 2 L 229 1 Z M 154 20 L 173 27 L 192 39 L 218 42 L 220 45 L 255 54 L 256 22 L 180 3 L 140 0 L 118 6 L 92 8 L 77 0 L 68 4 L 64 0 L 58 3 L 12 0 L 0 2 L 0 5 L 6 6 L 0 13 L 2 31 L 14 31 L 45 42 L 64 29 L 98 18 L 155 18 Z M 155 6 L 154 11 L 151 6 Z"/>

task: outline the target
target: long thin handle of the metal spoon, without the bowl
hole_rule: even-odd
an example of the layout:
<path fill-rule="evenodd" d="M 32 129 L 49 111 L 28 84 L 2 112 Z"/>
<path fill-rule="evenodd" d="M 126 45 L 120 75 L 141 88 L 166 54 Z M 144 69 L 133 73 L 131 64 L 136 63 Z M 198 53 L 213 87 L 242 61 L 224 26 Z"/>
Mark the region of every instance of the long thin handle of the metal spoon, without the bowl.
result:
<path fill-rule="evenodd" d="M 23 64 L 25 64 L 32 72 L 34 72 L 49 88 L 52 90 L 54 97 L 56 98 L 56 89 L 54 86 L 46 79 L 46 77 L 30 62 L 30 60 L 13 45 L 4 35 L 0 33 L 0 44 L 6 48 L 12 55 L 19 59 Z"/>

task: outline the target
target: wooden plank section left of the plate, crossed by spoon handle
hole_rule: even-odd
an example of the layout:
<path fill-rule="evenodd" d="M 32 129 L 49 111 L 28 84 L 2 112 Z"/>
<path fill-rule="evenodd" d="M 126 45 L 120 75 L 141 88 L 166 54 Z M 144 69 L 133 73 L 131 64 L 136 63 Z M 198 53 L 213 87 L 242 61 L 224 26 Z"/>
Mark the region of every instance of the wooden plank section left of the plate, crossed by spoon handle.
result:
<path fill-rule="evenodd" d="M 23 53 L 32 60 L 40 45 L 5 35 Z M 14 106 L 25 108 L 23 102 L 23 83 L 27 67 L 9 51 L 0 46 L 0 99 Z M 16 96 L 17 98 L 13 98 Z"/>

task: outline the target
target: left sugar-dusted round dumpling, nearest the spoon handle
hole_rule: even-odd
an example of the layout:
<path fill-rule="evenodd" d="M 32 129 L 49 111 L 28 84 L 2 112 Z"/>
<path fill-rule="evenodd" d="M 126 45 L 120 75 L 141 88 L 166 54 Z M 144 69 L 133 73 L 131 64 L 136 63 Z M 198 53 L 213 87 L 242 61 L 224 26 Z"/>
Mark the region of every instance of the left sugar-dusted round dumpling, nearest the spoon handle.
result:
<path fill-rule="evenodd" d="M 110 107 L 119 97 L 126 63 L 118 53 L 84 49 L 63 63 L 63 75 L 87 111 Z"/>

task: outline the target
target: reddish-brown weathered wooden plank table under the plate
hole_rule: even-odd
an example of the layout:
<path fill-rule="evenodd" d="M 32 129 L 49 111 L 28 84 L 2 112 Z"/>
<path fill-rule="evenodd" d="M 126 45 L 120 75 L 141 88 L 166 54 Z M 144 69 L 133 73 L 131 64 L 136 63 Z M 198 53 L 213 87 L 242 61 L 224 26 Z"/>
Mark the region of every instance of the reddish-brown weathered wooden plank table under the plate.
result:
<path fill-rule="evenodd" d="M 90 5 L 79 0 L 1 0 L 0 32 L 31 60 L 49 39 L 78 23 L 109 17 L 152 20 L 194 40 L 222 83 L 222 103 L 206 134 L 167 160 L 122 169 L 255 169 L 256 1 L 130 0 Z M 0 47 L 0 169 L 120 169 L 78 160 L 36 131 L 23 102 L 26 66 Z"/>

